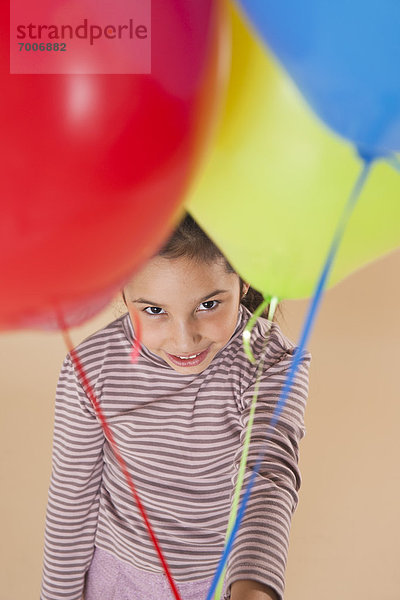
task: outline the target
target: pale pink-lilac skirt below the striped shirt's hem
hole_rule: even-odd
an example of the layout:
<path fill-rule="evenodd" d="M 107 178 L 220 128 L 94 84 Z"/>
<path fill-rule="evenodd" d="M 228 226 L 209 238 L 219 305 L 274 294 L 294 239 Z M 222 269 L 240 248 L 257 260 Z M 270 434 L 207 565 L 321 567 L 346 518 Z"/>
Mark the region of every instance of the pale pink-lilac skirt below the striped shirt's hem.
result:
<path fill-rule="evenodd" d="M 212 579 L 176 583 L 182 600 L 205 600 Z M 224 599 L 228 600 L 224 587 Z M 86 575 L 84 600 L 175 600 L 164 573 L 136 569 L 95 548 Z"/>

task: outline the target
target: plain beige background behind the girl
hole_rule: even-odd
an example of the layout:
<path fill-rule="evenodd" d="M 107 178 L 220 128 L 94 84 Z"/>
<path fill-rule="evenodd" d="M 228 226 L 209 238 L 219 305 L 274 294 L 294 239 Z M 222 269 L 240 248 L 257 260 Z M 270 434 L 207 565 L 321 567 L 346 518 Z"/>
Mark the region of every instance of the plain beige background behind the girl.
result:
<path fill-rule="evenodd" d="M 286 600 L 400 598 L 399 273 L 397 252 L 330 290 L 320 310 Z M 306 306 L 284 303 L 279 322 L 294 340 Z M 75 330 L 74 342 L 116 316 L 108 309 Z M 53 397 L 65 353 L 56 333 L 0 335 L 0 600 L 39 598 Z"/>

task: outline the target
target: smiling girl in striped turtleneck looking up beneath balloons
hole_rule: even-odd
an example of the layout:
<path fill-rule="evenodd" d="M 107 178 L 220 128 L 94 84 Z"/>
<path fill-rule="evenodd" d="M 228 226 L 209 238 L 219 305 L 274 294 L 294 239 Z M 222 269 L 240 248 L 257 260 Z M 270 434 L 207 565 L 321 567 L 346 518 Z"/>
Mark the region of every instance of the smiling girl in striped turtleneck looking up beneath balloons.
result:
<path fill-rule="evenodd" d="M 82 342 L 77 354 L 183 600 L 206 598 L 221 556 L 257 367 L 265 361 L 244 485 L 260 450 L 266 452 L 224 597 L 282 599 L 310 355 L 267 441 L 295 346 L 260 317 L 250 363 L 242 332 L 261 296 L 189 215 L 123 298 L 128 312 Z M 142 346 L 132 363 L 135 315 Z M 83 593 L 85 600 L 173 598 L 68 355 L 56 395 L 41 599 L 80 600 Z"/>

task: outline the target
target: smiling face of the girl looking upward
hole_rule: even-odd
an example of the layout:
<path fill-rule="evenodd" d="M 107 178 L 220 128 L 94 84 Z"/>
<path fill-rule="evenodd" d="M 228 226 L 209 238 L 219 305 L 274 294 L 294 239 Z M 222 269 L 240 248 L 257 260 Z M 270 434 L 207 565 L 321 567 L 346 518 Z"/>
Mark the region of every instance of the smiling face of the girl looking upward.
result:
<path fill-rule="evenodd" d="M 157 256 L 125 287 L 132 323 L 142 342 L 178 373 L 208 367 L 236 328 L 240 280 L 221 259 L 211 264 Z M 190 358 L 188 358 L 190 357 Z"/>

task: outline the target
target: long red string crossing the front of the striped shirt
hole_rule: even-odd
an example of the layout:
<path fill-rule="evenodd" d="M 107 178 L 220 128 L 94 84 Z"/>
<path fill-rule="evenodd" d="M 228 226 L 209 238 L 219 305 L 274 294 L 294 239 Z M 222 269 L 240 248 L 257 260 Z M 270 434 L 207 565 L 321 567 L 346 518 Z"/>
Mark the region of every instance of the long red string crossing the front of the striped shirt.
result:
<path fill-rule="evenodd" d="M 114 439 L 113 433 L 112 433 L 112 431 L 111 431 L 111 429 L 110 429 L 110 427 L 109 427 L 109 425 L 107 423 L 107 419 L 106 419 L 106 417 L 105 417 L 105 415 L 104 415 L 104 413 L 103 413 L 103 411 L 102 411 L 102 409 L 100 407 L 100 404 L 99 404 L 99 402 L 98 402 L 98 400 L 96 398 L 96 394 L 94 392 L 94 389 L 93 389 L 93 387 L 92 387 L 92 385 L 91 385 L 88 377 L 86 376 L 86 373 L 85 373 L 85 370 L 83 368 L 83 365 L 82 365 L 81 361 L 79 360 L 79 357 L 78 357 L 78 355 L 77 355 L 77 353 L 76 353 L 76 351 L 75 351 L 75 349 L 74 349 L 74 347 L 72 345 L 71 337 L 69 335 L 69 332 L 68 332 L 67 328 L 65 327 L 64 319 L 62 317 L 60 317 L 60 316 L 59 316 L 59 319 L 60 319 L 60 324 L 61 324 L 60 329 L 62 331 L 65 344 L 66 344 L 66 346 L 68 348 L 68 351 L 70 353 L 73 365 L 74 365 L 74 367 L 75 367 L 75 369 L 76 369 L 76 371 L 78 373 L 78 376 L 79 376 L 79 378 L 81 380 L 82 386 L 83 386 L 83 388 L 84 388 L 84 390 L 85 390 L 85 392 L 86 392 L 86 394 L 87 394 L 87 396 L 88 396 L 88 398 L 89 398 L 89 400 L 90 400 L 90 402 L 91 402 L 91 404 L 92 404 L 92 406 L 93 406 L 93 408 L 94 408 L 94 410 L 96 412 L 96 415 L 97 415 L 97 417 L 98 417 L 98 419 L 99 419 L 99 421 L 101 423 L 101 426 L 103 428 L 104 434 L 105 434 L 106 438 L 108 439 L 108 441 L 110 443 L 112 451 L 114 452 L 114 455 L 115 455 L 116 459 L 119 462 L 121 470 L 122 470 L 122 472 L 123 472 L 123 474 L 125 476 L 126 482 L 127 482 L 128 486 L 129 486 L 129 488 L 131 490 L 132 496 L 133 496 L 133 498 L 134 498 L 134 500 L 136 502 L 136 505 L 137 505 L 137 507 L 139 509 L 139 512 L 140 512 L 140 514 L 141 514 L 141 516 L 143 518 L 143 521 L 144 521 L 144 523 L 146 525 L 146 528 L 147 528 L 147 531 L 149 533 L 150 539 L 153 542 L 154 548 L 155 548 L 155 550 L 156 550 L 156 552 L 158 554 L 158 557 L 160 559 L 160 562 L 162 564 L 164 572 L 165 572 L 165 574 L 167 576 L 167 579 L 168 579 L 168 582 L 169 582 L 169 584 L 171 586 L 171 589 L 172 589 L 173 595 L 175 597 L 175 600 L 182 600 L 181 597 L 180 597 L 180 595 L 179 595 L 178 589 L 177 589 L 177 587 L 175 585 L 175 582 L 172 579 L 171 572 L 169 570 L 167 561 L 165 560 L 164 555 L 163 555 L 163 553 L 161 551 L 160 544 L 159 544 L 159 542 L 158 542 L 158 540 L 156 538 L 156 535 L 155 535 L 155 533 L 153 531 L 153 528 L 152 528 L 152 526 L 150 524 L 150 521 L 149 521 L 149 519 L 147 517 L 147 513 L 145 511 L 145 508 L 144 508 L 144 506 L 143 506 L 143 504 L 142 504 L 142 502 L 141 502 L 141 500 L 139 498 L 139 495 L 138 495 L 138 493 L 136 491 L 136 488 L 134 486 L 134 483 L 132 481 L 132 477 L 131 477 L 131 475 L 130 475 L 130 473 L 128 471 L 126 463 L 125 463 L 124 459 L 121 456 L 121 453 L 119 451 L 117 443 L 116 443 L 116 441 Z M 139 345 L 139 348 L 140 348 L 140 345 Z"/>

